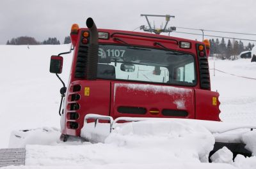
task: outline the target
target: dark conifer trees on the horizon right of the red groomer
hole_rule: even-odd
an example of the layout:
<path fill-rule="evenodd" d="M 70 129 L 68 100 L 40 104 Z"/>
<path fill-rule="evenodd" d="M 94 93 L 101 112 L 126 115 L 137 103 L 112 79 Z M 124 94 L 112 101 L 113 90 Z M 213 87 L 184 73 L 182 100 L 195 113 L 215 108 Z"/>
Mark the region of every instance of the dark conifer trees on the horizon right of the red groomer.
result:
<path fill-rule="evenodd" d="M 247 46 L 244 46 L 243 41 L 236 39 L 226 41 L 224 38 L 221 39 L 221 41 L 216 38 L 209 40 L 210 41 L 210 54 L 211 56 L 220 57 L 222 59 L 230 59 L 234 55 L 239 55 L 241 52 L 246 50 L 252 50 L 252 48 L 255 46 L 252 43 L 248 43 Z"/>

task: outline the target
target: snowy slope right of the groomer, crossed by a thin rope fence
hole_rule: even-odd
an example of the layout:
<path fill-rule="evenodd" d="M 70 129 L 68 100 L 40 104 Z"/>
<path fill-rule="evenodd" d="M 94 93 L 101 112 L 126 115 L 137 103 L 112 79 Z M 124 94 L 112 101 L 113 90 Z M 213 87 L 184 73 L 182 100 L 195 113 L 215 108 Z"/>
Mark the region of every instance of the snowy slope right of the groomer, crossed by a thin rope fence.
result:
<path fill-rule="evenodd" d="M 215 64 L 215 76 L 214 76 Z M 213 60 L 209 59 L 211 68 L 212 91 L 220 92 L 220 118 L 225 122 L 256 122 L 256 62 L 251 59 Z M 229 75 L 222 73 L 234 74 Z M 248 78 L 242 78 L 248 77 Z M 255 78 L 254 80 L 250 78 Z"/>

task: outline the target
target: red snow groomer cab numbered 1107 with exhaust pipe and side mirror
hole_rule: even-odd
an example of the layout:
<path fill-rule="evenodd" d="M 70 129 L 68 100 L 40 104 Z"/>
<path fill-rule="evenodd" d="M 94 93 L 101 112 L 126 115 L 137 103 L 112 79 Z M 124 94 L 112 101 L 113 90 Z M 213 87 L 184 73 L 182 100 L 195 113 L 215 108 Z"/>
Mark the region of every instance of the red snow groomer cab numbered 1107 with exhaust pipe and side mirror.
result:
<path fill-rule="evenodd" d="M 64 140 L 81 136 L 87 114 L 220 121 L 209 41 L 97 29 L 92 18 L 86 26 L 74 24 L 70 33 L 74 56 L 59 112 Z M 52 55 L 51 73 L 61 73 L 60 55 L 70 52 Z"/>

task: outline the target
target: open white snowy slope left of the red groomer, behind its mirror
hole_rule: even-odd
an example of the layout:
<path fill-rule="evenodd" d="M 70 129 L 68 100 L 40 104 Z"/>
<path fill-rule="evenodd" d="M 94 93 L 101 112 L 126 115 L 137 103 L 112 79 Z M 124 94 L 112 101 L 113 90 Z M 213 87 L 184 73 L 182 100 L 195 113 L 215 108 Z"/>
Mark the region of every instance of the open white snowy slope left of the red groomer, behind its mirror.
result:
<path fill-rule="evenodd" d="M 0 148 L 8 147 L 16 129 L 60 128 L 60 88 L 49 73 L 51 55 L 69 50 L 70 45 L 0 45 Z M 72 55 L 65 55 L 63 80 L 67 82 Z"/>

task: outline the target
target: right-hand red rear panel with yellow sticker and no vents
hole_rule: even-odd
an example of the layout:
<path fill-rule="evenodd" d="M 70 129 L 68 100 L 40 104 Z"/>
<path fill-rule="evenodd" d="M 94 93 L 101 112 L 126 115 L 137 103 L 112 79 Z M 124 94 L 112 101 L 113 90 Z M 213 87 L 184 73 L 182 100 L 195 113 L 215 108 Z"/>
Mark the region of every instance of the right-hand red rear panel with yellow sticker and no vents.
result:
<path fill-rule="evenodd" d="M 195 89 L 195 119 L 220 121 L 219 96 L 218 92 Z"/>

